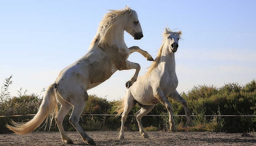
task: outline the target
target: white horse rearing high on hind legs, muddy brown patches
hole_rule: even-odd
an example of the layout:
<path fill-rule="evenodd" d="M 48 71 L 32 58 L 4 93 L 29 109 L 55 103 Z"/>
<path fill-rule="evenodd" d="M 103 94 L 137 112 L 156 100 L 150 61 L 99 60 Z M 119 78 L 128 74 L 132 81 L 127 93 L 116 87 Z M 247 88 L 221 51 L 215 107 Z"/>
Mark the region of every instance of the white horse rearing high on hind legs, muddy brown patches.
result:
<path fill-rule="evenodd" d="M 41 123 L 53 118 L 61 133 L 63 142 L 73 143 L 67 137 L 62 122 L 65 115 L 73 107 L 69 118 L 70 123 L 76 128 L 84 142 L 95 145 L 79 125 L 86 101 L 87 90 L 106 81 L 117 70 L 136 69 L 134 76 L 127 82 L 129 88 L 137 79 L 140 65 L 127 60 L 132 52 L 139 52 L 148 60 L 153 61 L 151 55 L 139 47 L 128 48 L 124 42 L 124 31 L 134 39 L 143 37 L 137 13 L 131 8 L 110 10 L 102 18 L 96 36 L 92 40 L 88 52 L 73 64 L 64 68 L 45 92 L 39 111 L 32 120 L 26 123 L 15 123 L 7 127 L 17 134 L 28 134 L 40 126 Z M 61 104 L 58 112 L 57 100 Z M 58 112 L 58 113 L 57 113 Z M 55 116 L 56 115 L 56 116 Z"/>

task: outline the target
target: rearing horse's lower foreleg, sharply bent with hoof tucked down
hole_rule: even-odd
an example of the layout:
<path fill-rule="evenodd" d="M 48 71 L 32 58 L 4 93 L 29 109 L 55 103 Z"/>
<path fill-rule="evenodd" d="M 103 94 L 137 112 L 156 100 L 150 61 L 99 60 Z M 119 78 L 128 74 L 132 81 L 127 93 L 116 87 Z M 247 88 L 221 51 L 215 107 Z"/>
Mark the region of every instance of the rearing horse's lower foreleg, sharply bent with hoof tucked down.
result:
<path fill-rule="evenodd" d="M 134 84 L 134 82 L 137 80 L 139 71 L 140 71 L 140 65 L 134 62 L 130 62 L 126 60 L 126 66 L 122 68 L 123 70 L 130 70 L 130 69 L 135 69 L 135 73 L 132 76 L 132 78 L 125 83 L 125 87 L 128 89 Z"/>

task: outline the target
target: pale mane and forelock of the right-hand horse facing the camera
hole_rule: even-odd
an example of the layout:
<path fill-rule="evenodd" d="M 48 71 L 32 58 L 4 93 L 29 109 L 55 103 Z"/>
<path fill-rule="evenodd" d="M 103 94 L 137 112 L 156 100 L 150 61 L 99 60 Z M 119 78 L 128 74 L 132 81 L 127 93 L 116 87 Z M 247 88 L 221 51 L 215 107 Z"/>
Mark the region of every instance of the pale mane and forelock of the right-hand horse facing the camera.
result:
<path fill-rule="evenodd" d="M 174 29 L 175 30 L 175 29 Z M 156 68 L 157 68 L 157 65 L 158 63 L 160 62 L 160 58 L 161 58 L 161 55 L 162 55 L 162 50 L 164 48 L 164 42 L 166 41 L 167 37 L 170 35 L 170 34 L 175 34 L 179 37 L 179 39 L 182 39 L 181 38 L 181 35 L 182 35 L 182 32 L 180 31 L 180 33 L 171 30 L 169 27 L 165 28 L 165 31 L 164 33 L 162 34 L 162 45 L 160 47 L 160 49 L 158 49 L 158 53 L 157 53 L 157 56 L 156 56 L 156 59 L 153 61 L 153 63 L 149 66 L 149 70 L 146 72 L 146 77 L 148 77 Z"/>

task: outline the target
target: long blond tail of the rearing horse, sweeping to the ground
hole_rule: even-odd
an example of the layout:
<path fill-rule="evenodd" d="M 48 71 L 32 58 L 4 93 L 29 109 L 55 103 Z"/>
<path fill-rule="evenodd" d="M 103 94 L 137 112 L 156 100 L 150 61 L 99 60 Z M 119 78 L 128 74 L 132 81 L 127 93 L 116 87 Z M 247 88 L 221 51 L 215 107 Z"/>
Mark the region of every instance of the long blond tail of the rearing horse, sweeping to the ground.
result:
<path fill-rule="evenodd" d="M 37 127 L 39 127 L 41 123 L 44 122 L 44 119 L 46 119 L 45 128 L 49 120 L 49 127 L 51 127 L 52 119 L 54 119 L 55 115 L 58 113 L 58 104 L 54 92 L 55 89 L 56 84 L 52 84 L 50 85 L 50 87 L 47 88 L 39 110 L 32 120 L 26 123 L 16 123 L 14 121 L 11 121 L 14 126 L 10 126 L 7 124 L 6 127 L 17 134 L 28 134 L 35 130 Z"/>

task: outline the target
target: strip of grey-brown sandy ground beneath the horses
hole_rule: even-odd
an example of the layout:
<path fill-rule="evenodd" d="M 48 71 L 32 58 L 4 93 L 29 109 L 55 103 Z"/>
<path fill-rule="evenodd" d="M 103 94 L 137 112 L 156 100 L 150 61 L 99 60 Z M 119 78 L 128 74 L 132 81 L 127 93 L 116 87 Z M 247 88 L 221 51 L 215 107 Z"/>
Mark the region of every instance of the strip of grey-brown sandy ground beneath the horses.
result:
<path fill-rule="evenodd" d="M 147 132 L 143 139 L 139 132 L 125 132 L 125 139 L 118 140 L 118 131 L 87 131 L 97 146 L 256 146 L 256 132 Z M 67 132 L 74 144 L 61 141 L 59 132 L 32 132 L 29 135 L 0 134 L 0 146 L 84 146 L 77 132 Z"/>

